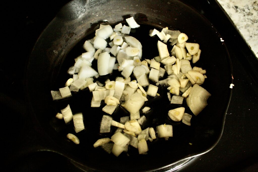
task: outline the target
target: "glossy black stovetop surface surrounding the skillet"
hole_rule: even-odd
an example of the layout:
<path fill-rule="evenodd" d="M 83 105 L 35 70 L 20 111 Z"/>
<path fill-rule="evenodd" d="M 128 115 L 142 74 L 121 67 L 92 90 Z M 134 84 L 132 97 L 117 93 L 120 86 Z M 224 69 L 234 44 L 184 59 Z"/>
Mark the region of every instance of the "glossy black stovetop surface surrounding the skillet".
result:
<path fill-rule="evenodd" d="M 2 6 L 1 140 L 4 144 L 4 164 L 10 171 L 81 171 L 67 158 L 53 152 L 18 156 L 22 152 L 19 141 L 26 139 L 25 131 L 31 127 L 24 125 L 29 120 L 23 91 L 27 59 L 41 32 L 66 2 L 69 1 L 25 1 Z M 179 170 L 257 171 L 258 61 L 216 1 L 183 2 L 202 13 L 225 40 L 233 65 L 235 86 L 220 142 L 214 149 L 193 158 Z"/>

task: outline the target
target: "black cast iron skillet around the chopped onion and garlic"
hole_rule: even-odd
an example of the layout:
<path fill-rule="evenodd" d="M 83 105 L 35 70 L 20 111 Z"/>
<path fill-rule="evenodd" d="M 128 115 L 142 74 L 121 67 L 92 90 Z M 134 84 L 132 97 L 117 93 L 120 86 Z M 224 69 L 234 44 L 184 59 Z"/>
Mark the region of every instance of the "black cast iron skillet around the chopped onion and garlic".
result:
<path fill-rule="evenodd" d="M 188 35 L 189 41 L 198 42 L 202 52 L 196 66 L 207 69 L 208 78 L 202 86 L 212 96 L 208 99 L 208 106 L 198 116 L 193 117 L 190 127 L 171 122 L 167 118 L 167 112 L 163 113 L 156 108 L 149 115 L 152 120 L 149 124 L 154 127 L 164 123 L 173 125 L 174 137 L 168 141 L 158 139 L 150 143 L 147 155 L 138 155 L 136 149 L 131 149 L 130 156 L 122 153 L 117 158 L 102 149 L 93 148 L 96 139 L 103 137 L 97 134 L 99 124 L 95 124 L 100 122 L 103 112 L 101 109 L 88 108 L 90 93 L 81 91 L 71 98 L 53 102 L 50 90 L 63 86 L 69 77 L 66 70 L 72 65 L 74 55 L 82 53 L 82 42 L 97 29 L 99 23 L 107 20 L 110 24 L 116 24 L 124 22 L 128 16 L 134 16 L 143 26 L 179 29 Z M 148 34 L 148 30 L 146 32 Z M 41 137 L 42 140 L 30 151 L 57 152 L 86 171 L 158 170 L 206 153 L 221 137 L 231 97 L 231 62 L 226 46 L 220 38 L 209 21 L 180 1 L 69 2 L 43 31 L 28 61 L 25 87 L 30 107 L 29 115 L 37 130 L 35 137 Z M 148 48 L 143 47 L 143 56 L 144 53 L 147 54 L 147 50 Z M 152 57 L 155 55 L 148 58 Z M 165 93 L 161 92 L 162 96 Z M 156 102 L 158 103 L 153 107 L 165 105 L 166 108 L 173 108 L 169 102 L 168 105 L 163 101 Z M 65 125 L 62 120 L 55 118 L 58 110 L 67 104 L 70 104 L 73 113 L 80 111 L 84 114 L 86 130 L 76 134 L 80 139 L 79 145 L 66 139 L 67 133 L 75 134 L 72 124 Z M 186 109 L 186 112 L 191 113 L 189 109 Z M 119 110 L 112 117 L 119 119 L 125 115 L 128 114 Z"/>

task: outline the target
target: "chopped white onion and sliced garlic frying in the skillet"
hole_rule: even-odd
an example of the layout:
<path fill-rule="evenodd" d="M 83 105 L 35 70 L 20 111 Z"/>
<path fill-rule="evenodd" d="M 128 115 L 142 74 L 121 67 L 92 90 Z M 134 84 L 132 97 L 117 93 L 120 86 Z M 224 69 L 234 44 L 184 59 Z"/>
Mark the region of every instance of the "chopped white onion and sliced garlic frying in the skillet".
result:
<path fill-rule="evenodd" d="M 101 147 L 115 156 L 126 152 L 129 145 L 138 149 L 139 154 L 147 154 L 148 142 L 157 137 L 165 140 L 173 137 L 172 125 L 143 128 L 146 116 L 141 114 L 152 110 L 144 104 L 148 99 L 159 96 L 160 88 L 167 88 L 166 99 L 171 104 L 182 105 L 186 99 L 187 106 L 194 115 L 198 115 L 206 107 L 207 99 L 211 96 L 200 86 L 207 78 L 206 70 L 191 66 L 191 61 L 194 64 L 200 58 L 199 44 L 187 42 L 188 36 L 178 30 L 153 29 L 149 31 L 149 36 L 159 38 L 159 56 L 143 59 L 141 42 L 129 36 L 131 28 L 138 28 L 140 25 L 133 17 L 126 19 L 126 22 L 128 26 L 119 23 L 114 28 L 100 25 L 95 31 L 95 37 L 85 41 L 83 48 L 86 52 L 75 58 L 75 64 L 69 68 L 68 73 L 72 78 L 67 80 L 65 87 L 51 91 L 53 100 L 59 100 L 72 96 L 72 92 L 88 89 L 92 92 L 92 108 L 99 108 L 103 102 L 106 104 L 102 108 L 105 115 L 99 132 L 110 133 L 111 126 L 117 127 L 117 130 L 111 138 L 96 140 L 93 147 Z M 173 46 L 170 53 L 168 42 Z M 91 67 L 95 62 L 97 68 Z M 113 70 L 120 71 L 121 75 L 115 80 L 107 79 L 105 83 L 98 81 L 99 76 L 109 75 Z M 168 76 L 164 79 L 165 73 Z M 155 84 L 150 84 L 150 80 Z M 130 116 L 114 121 L 112 114 L 117 108 L 126 109 Z M 66 124 L 73 121 L 76 133 L 85 129 L 83 114 L 73 114 L 69 104 L 56 117 L 64 119 Z M 168 117 L 175 122 L 182 121 L 191 125 L 192 116 L 185 113 L 185 107 L 169 110 Z M 75 135 L 69 133 L 67 137 L 79 144 Z"/>

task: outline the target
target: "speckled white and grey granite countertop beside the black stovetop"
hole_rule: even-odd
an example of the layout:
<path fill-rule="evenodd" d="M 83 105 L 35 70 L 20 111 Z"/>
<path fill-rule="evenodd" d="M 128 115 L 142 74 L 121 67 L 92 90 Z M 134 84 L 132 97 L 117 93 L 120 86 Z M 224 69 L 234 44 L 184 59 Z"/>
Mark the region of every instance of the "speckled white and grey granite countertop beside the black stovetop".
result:
<path fill-rule="evenodd" d="M 258 58 L 258 1 L 217 0 Z M 226 40 L 225 40 L 226 41 Z"/>

